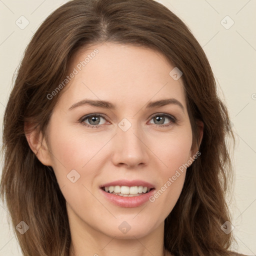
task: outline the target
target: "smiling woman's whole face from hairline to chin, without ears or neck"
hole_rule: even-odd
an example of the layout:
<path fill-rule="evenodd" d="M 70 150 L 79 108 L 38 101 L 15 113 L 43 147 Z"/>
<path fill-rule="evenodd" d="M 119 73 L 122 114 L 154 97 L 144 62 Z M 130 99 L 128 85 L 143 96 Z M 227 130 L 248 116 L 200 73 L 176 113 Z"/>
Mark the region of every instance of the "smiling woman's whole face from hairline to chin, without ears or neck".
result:
<path fill-rule="evenodd" d="M 124 44 L 73 57 L 46 140 L 71 225 L 119 238 L 163 226 L 194 154 L 173 68 L 159 52 Z"/>

